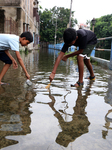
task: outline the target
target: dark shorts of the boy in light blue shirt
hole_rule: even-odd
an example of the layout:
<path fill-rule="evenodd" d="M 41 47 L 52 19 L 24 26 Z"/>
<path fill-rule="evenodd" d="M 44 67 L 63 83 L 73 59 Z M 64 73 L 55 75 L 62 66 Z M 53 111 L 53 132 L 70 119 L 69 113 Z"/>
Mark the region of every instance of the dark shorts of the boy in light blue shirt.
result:
<path fill-rule="evenodd" d="M 4 51 L 0 51 L 0 60 L 5 64 L 12 64 L 12 60 L 7 56 Z"/>

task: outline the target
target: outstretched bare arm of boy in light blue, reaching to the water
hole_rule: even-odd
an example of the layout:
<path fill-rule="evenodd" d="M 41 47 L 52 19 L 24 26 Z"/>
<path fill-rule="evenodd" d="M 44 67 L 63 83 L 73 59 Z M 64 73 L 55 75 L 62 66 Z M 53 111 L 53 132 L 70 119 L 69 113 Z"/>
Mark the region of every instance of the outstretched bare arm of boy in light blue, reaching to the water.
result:
<path fill-rule="evenodd" d="M 21 55 L 20 55 L 20 53 L 19 53 L 18 51 L 16 51 L 16 56 L 17 56 L 17 59 L 18 59 L 18 61 L 19 61 L 19 64 L 21 65 L 21 67 L 23 68 L 23 70 L 24 70 L 24 72 L 25 72 L 26 77 L 29 79 L 29 78 L 30 78 L 30 75 L 28 74 L 28 72 L 27 72 L 27 70 L 26 70 L 26 68 L 25 68 L 25 65 L 24 65 L 24 63 L 23 63 L 23 60 L 22 60 L 22 58 L 21 58 Z"/>

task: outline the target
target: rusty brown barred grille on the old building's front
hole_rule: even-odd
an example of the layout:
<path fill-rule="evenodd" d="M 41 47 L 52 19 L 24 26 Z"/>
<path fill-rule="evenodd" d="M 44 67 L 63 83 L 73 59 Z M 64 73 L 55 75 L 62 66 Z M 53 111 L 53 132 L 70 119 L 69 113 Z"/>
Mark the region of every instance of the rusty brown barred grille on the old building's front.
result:
<path fill-rule="evenodd" d="M 18 23 L 12 18 L 5 18 L 4 32 L 18 35 Z"/>

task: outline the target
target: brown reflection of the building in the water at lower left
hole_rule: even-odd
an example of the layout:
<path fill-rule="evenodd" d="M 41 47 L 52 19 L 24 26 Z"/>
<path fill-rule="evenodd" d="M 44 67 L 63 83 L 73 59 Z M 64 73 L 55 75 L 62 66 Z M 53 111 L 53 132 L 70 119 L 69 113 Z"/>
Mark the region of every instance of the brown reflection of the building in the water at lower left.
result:
<path fill-rule="evenodd" d="M 5 91 L 9 88 L 0 87 L 0 148 L 18 143 L 16 140 L 7 139 L 6 136 L 31 133 L 32 112 L 29 111 L 29 104 L 34 101 L 35 93 L 22 89 L 21 95 L 6 95 Z"/>

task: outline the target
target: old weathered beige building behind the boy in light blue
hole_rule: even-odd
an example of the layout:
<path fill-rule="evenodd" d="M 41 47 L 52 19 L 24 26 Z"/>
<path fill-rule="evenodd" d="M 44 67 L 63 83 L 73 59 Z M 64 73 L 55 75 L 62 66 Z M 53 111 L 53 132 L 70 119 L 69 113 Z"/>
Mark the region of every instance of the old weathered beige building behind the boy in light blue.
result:
<path fill-rule="evenodd" d="M 34 41 L 28 48 L 38 48 L 38 3 L 38 0 L 0 0 L 0 33 L 20 35 L 30 31 Z"/>

